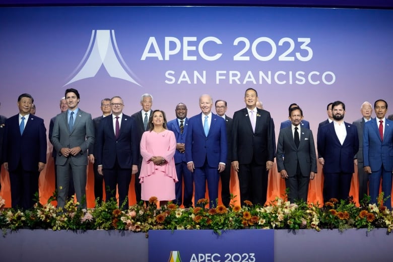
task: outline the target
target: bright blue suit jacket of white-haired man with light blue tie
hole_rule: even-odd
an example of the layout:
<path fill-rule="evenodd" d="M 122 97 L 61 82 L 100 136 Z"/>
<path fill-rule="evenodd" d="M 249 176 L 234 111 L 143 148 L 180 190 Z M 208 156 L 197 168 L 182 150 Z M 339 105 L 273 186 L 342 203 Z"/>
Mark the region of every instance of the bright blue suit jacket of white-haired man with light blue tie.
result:
<path fill-rule="evenodd" d="M 186 162 L 193 162 L 195 167 L 202 167 L 205 160 L 211 168 L 218 168 L 227 158 L 227 134 L 224 118 L 212 113 L 208 136 L 205 136 L 202 112 L 188 120 L 185 139 Z"/>

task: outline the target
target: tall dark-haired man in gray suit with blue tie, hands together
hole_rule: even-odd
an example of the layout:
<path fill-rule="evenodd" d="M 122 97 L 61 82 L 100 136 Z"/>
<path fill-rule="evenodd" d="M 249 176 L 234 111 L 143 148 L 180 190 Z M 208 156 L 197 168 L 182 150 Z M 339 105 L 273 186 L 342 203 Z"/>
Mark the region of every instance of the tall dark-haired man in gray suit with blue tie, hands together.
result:
<path fill-rule="evenodd" d="M 58 152 L 57 206 L 64 208 L 72 172 L 77 201 L 82 208 L 86 208 L 87 150 L 94 143 L 94 124 L 91 114 L 78 107 L 78 90 L 65 90 L 65 100 L 68 110 L 56 116 L 51 139 Z"/>

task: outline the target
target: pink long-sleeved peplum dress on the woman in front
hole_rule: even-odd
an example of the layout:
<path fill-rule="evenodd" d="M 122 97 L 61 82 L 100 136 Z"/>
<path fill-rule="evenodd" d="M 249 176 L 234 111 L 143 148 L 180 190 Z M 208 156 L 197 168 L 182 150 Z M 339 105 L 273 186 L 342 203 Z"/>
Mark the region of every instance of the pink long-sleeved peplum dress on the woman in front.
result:
<path fill-rule="evenodd" d="M 175 183 L 178 180 L 173 159 L 175 150 L 176 139 L 172 131 L 143 133 L 141 140 L 143 160 L 139 175 L 142 200 L 157 197 L 159 201 L 170 201 L 176 198 Z M 165 165 L 155 165 L 153 161 L 150 161 L 153 156 L 165 158 Z"/>

